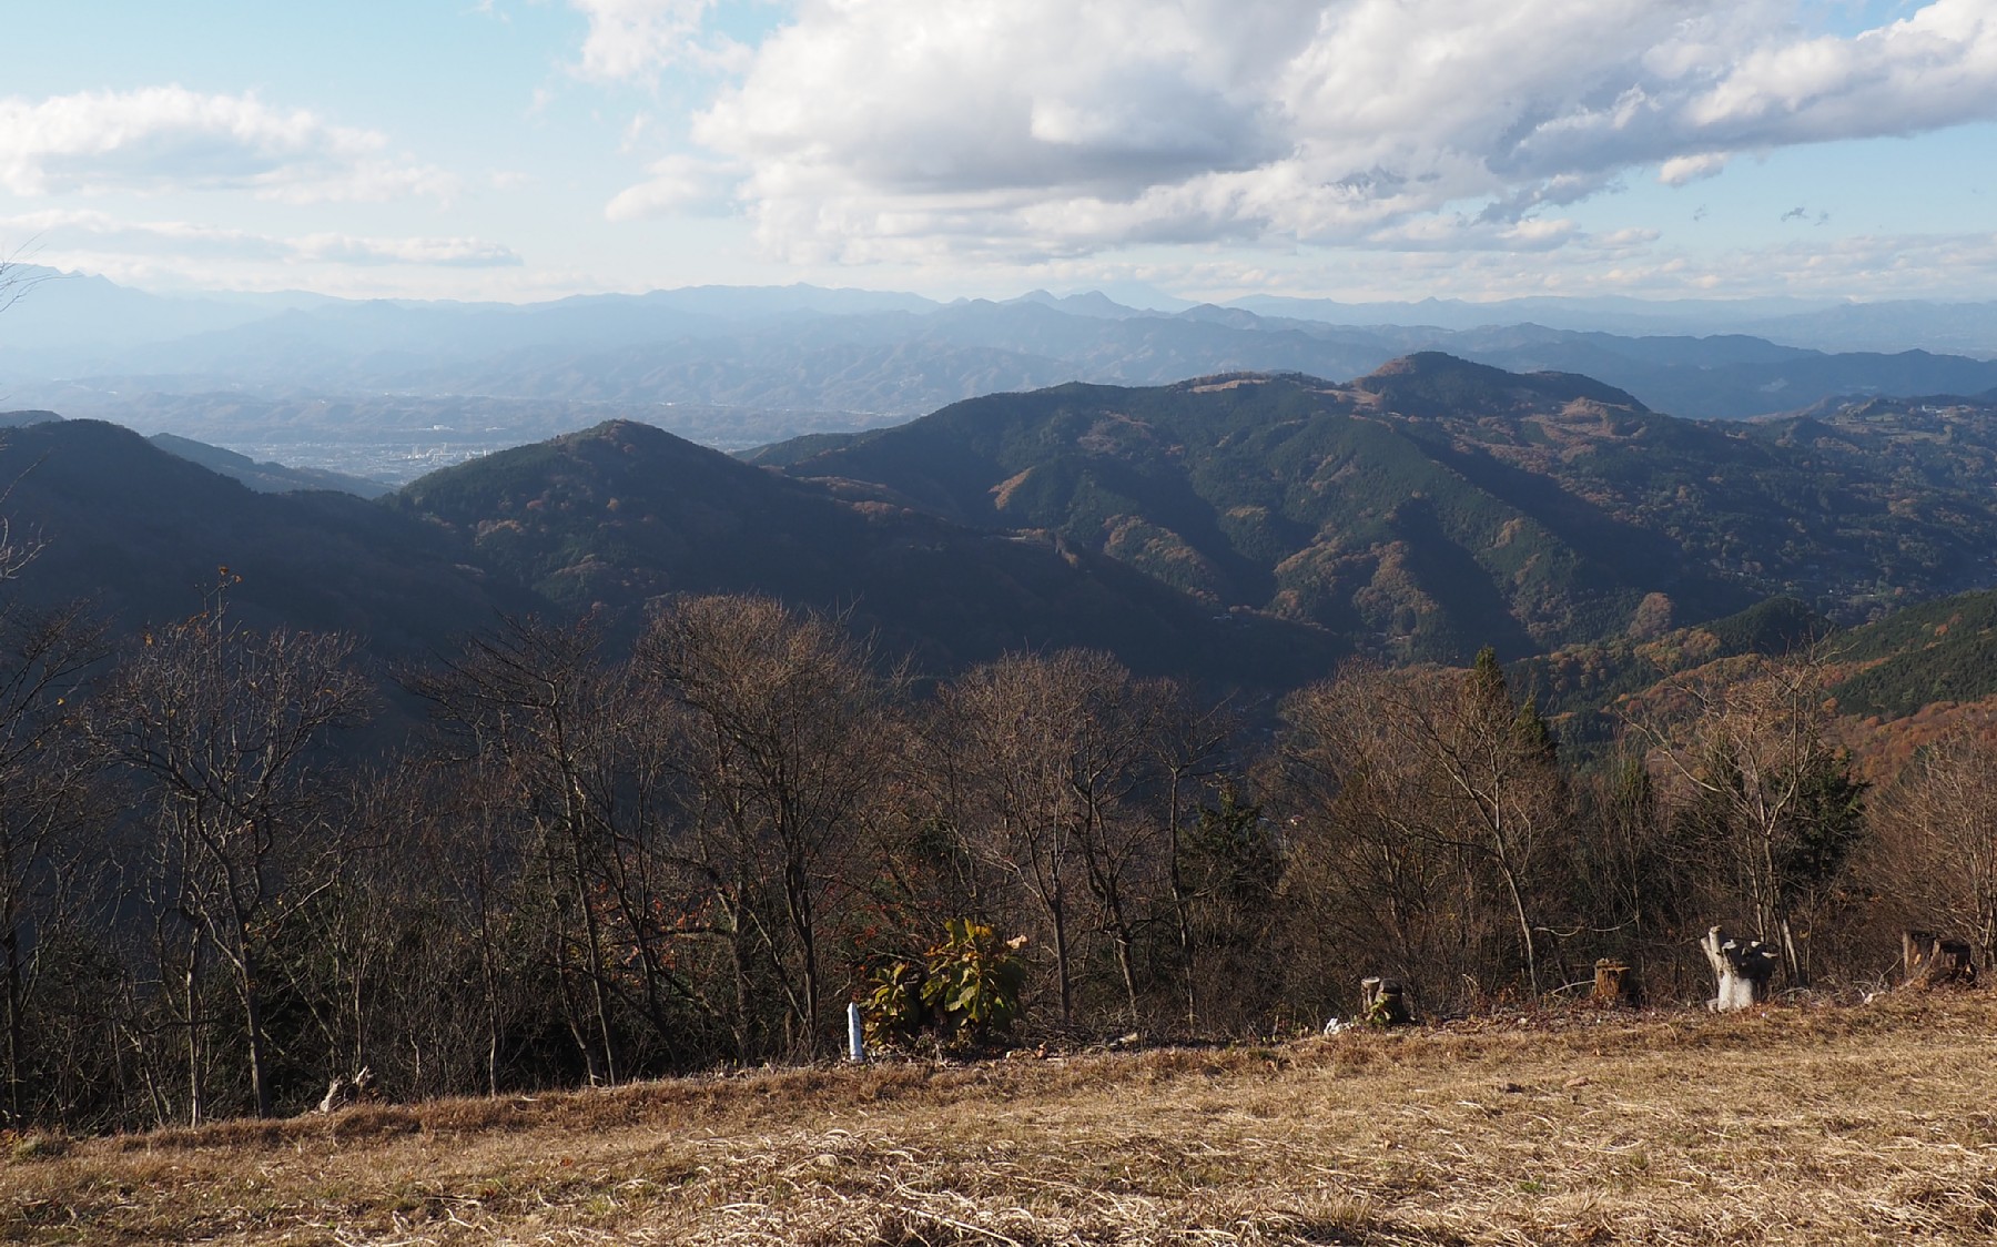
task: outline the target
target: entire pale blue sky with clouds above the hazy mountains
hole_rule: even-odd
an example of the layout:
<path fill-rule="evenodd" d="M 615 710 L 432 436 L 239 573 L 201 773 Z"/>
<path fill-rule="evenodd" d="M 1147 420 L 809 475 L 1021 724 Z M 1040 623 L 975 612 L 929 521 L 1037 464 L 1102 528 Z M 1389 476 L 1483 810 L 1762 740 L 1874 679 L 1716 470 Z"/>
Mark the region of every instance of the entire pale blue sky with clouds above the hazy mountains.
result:
<path fill-rule="evenodd" d="M 0 260 L 148 290 L 1997 298 L 1993 0 L 6 8 Z"/>

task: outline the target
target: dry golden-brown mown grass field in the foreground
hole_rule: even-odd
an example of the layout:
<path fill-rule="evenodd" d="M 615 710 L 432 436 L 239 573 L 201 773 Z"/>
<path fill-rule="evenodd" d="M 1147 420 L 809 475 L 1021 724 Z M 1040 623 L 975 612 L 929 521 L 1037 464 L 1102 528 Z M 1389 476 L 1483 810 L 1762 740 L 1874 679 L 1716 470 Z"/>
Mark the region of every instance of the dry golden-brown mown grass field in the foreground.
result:
<path fill-rule="evenodd" d="M 1997 997 L 26 1137 L 28 1243 L 1981 1243 Z"/>

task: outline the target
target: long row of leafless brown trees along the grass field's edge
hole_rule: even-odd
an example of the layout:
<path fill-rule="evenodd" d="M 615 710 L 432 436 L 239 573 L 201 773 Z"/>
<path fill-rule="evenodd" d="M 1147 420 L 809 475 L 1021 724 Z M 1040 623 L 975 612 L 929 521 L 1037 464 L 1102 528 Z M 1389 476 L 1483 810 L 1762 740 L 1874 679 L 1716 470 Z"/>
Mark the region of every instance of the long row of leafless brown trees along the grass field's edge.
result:
<path fill-rule="evenodd" d="M 1669 685 L 1578 767 L 1490 653 L 1244 725 L 1092 651 L 921 683 L 723 596 L 505 622 L 397 701 L 224 598 L 108 655 L 0 637 L 12 1125 L 823 1059 L 953 919 L 1022 939 L 1036 1039 L 1316 1027 L 1364 975 L 1544 1005 L 1598 957 L 1691 999 L 1713 921 L 1785 987 L 1877 981 L 1901 923 L 1997 953 L 1997 761 L 1937 747 L 1869 815 L 1807 661 Z"/>

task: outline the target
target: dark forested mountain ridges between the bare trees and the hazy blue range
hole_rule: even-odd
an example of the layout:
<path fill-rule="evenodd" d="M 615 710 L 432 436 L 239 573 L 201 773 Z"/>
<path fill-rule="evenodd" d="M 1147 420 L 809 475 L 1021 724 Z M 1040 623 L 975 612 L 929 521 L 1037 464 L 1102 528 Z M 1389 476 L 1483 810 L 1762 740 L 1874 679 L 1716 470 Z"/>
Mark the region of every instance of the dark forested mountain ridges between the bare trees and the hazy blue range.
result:
<path fill-rule="evenodd" d="M 1903 620 L 1849 633 L 1887 639 L 1841 693 L 1899 713 L 1975 685 L 1959 667 L 1997 627 L 1975 600 L 1917 606 L 1997 586 L 1989 402 L 1689 422 L 1586 376 L 1416 354 L 1348 384 L 987 396 L 747 460 L 613 420 L 377 502 L 258 494 L 202 464 L 262 488 L 284 470 L 100 422 L 0 426 L 14 532 L 46 540 L 10 592 L 96 598 L 140 627 L 192 612 L 226 566 L 252 620 L 351 629 L 383 657 L 449 651 L 501 614 L 595 612 L 627 635 L 675 594 L 759 592 L 839 612 L 931 675 L 1092 645 L 1280 691 L 1348 653 L 1492 643 L 1574 715 L 1654 679 L 1658 653 Z"/>

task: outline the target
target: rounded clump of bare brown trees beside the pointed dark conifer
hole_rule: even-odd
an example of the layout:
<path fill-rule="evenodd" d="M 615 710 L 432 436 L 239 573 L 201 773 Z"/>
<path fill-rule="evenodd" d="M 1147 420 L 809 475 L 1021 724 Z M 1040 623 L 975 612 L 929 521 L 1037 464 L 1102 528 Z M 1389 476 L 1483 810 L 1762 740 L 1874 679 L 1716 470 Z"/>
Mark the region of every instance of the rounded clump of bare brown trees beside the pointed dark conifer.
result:
<path fill-rule="evenodd" d="M 1554 985 L 1542 961 L 1572 925 L 1566 777 L 1492 655 L 1468 673 L 1352 665 L 1286 717 L 1284 887 L 1318 955 L 1364 949 L 1432 1001 Z"/>

